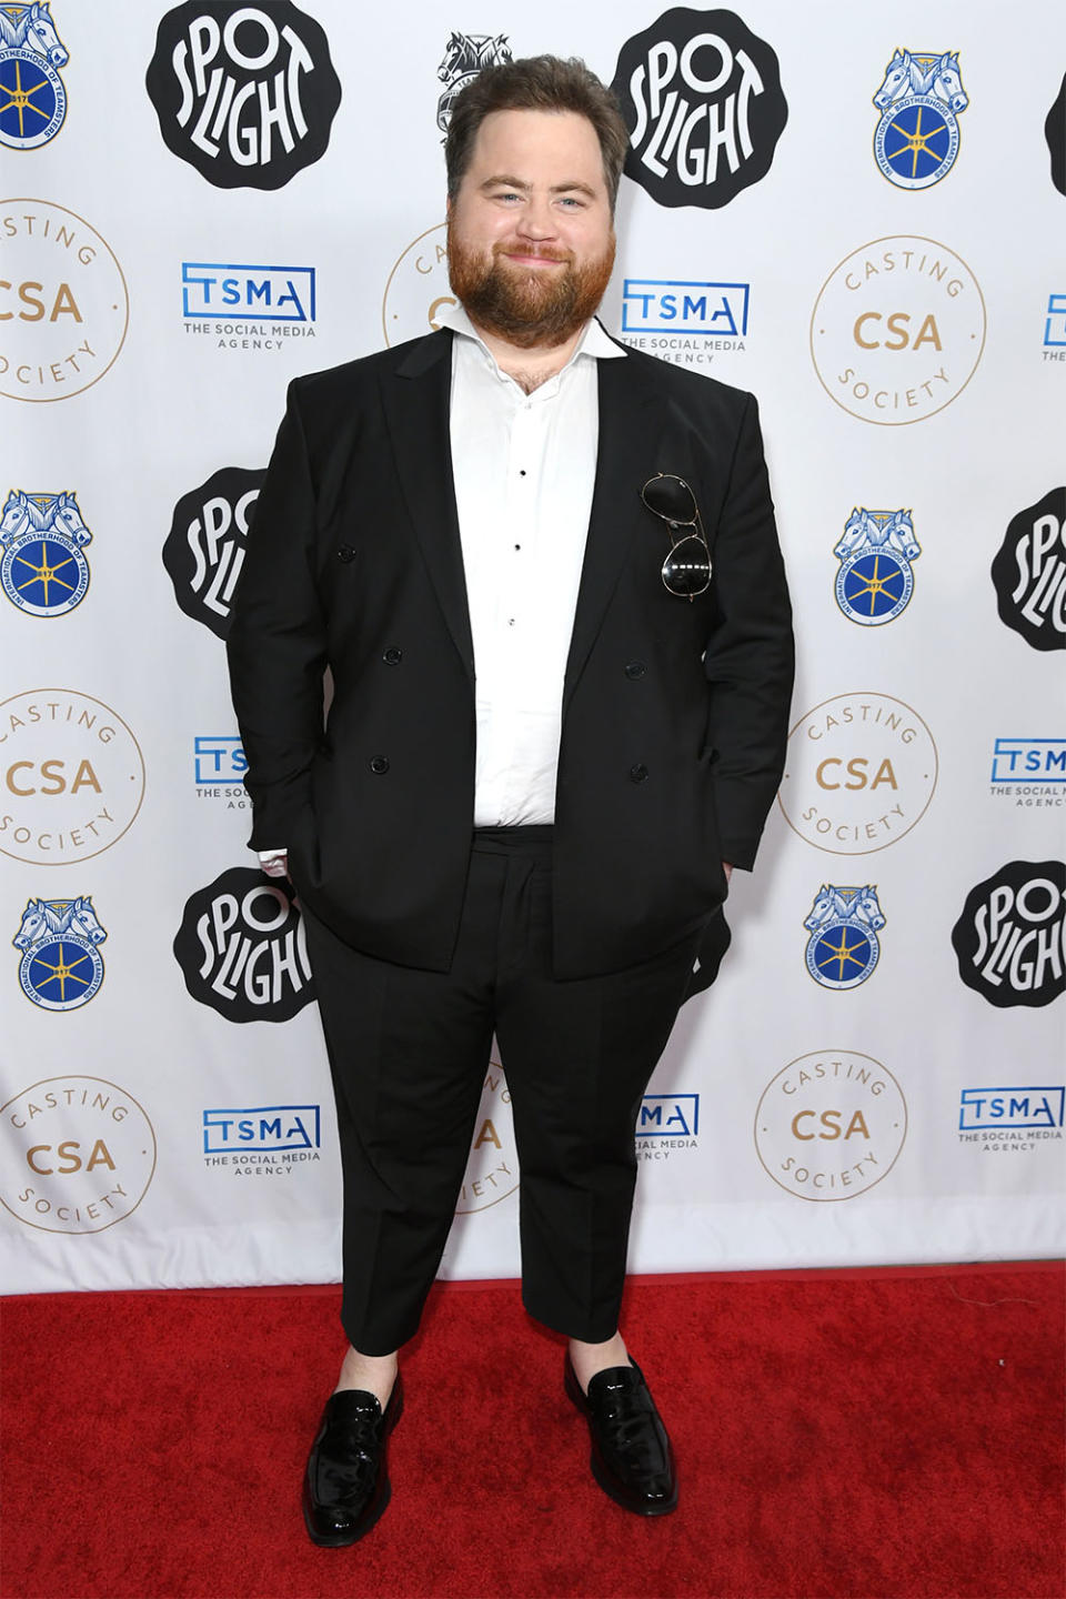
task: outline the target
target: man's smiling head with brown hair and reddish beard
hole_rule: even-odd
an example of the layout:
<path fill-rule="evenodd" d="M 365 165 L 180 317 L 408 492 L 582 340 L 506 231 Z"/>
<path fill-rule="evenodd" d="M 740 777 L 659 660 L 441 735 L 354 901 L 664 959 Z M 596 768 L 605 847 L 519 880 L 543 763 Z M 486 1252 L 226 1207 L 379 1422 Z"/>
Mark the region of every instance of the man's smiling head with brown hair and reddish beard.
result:
<path fill-rule="evenodd" d="M 523 349 L 564 344 L 603 299 L 628 134 L 580 61 L 487 67 L 447 130 L 447 257 L 455 296 Z"/>

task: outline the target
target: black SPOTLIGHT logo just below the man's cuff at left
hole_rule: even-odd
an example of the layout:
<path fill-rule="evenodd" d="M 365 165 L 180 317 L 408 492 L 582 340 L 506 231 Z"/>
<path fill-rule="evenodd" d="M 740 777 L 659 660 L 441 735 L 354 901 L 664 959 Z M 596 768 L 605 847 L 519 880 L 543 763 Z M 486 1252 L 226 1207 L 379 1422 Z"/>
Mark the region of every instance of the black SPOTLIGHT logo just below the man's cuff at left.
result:
<path fill-rule="evenodd" d="M 232 867 L 185 900 L 174 958 L 192 998 L 227 1022 L 288 1022 L 315 998 L 292 889 L 253 867 Z"/>

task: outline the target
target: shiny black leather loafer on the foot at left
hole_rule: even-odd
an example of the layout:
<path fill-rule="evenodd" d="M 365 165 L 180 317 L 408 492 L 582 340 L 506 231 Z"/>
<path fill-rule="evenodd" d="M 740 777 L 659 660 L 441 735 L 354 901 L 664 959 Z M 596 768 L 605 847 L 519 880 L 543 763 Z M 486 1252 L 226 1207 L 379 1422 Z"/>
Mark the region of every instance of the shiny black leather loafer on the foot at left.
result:
<path fill-rule="evenodd" d="M 312 1543 L 340 1549 L 358 1543 L 380 1519 L 392 1495 L 387 1442 L 401 1414 L 398 1372 L 384 1414 L 361 1388 L 329 1396 L 304 1473 L 304 1522 Z"/>

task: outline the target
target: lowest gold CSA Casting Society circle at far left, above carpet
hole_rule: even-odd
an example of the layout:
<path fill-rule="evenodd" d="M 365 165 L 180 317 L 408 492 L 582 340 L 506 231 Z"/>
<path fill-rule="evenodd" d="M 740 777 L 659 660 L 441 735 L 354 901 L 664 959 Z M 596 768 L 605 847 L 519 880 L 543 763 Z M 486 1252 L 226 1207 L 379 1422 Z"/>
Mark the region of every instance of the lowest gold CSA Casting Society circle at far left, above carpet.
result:
<path fill-rule="evenodd" d="M 144 1199 L 152 1122 L 117 1083 L 46 1078 L 0 1107 L 0 1204 L 43 1233 L 102 1233 Z"/>

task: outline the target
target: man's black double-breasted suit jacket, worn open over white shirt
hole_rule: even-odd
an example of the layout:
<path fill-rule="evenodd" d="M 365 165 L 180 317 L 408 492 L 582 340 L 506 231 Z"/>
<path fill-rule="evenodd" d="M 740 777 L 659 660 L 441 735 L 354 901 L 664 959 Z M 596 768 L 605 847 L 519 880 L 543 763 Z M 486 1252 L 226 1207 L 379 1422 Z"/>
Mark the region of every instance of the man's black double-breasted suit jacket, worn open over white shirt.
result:
<path fill-rule="evenodd" d="M 451 347 L 435 333 L 291 384 L 229 635 L 251 846 L 288 846 L 302 899 L 355 948 L 435 971 L 455 942 L 475 784 Z M 721 862 L 754 862 L 793 673 L 753 397 L 633 350 L 598 373 L 556 784 L 561 979 L 697 927 L 708 956 L 727 940 Z M 694 603 L 660 577 L 666 524 L 639 494 L 655 472 L 700 505 L 714 577 Z"/>

